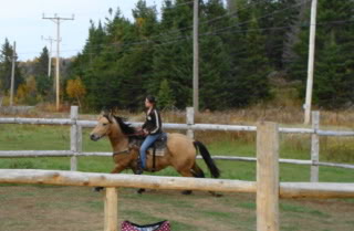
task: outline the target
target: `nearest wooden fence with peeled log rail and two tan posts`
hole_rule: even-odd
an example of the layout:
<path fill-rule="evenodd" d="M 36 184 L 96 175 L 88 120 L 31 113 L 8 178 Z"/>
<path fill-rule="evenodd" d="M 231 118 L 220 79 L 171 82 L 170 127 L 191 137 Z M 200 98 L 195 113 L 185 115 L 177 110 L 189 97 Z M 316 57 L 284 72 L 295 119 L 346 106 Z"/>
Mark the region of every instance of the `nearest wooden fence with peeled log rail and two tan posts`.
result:
<path fill-rule="evenodd" d="M 257 230 L 279 230 L 279 197 L 354 198 L 354 183 L 279 182 L 279 128 L 260 123 L 257 130 L 257 181 L 152 177 L 56 170 L 0 169 L 0 183 L 106 187 L 104 231 L 118 230 L 117 187 L 257 193 Z M 211 197 L 211 196 L 210 196 Z"/>

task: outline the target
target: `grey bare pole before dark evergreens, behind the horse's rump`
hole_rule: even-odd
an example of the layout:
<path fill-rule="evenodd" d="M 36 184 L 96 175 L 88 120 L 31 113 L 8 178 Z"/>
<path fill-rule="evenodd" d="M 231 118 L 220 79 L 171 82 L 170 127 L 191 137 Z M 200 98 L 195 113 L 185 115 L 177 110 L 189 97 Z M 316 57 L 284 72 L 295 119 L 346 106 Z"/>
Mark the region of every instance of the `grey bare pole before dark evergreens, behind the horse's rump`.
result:
<path fill-rule="evenodd" d="M 198 27 L 199 27 L 199 0 L 194 2 L 194 23 L 192 23 L 192 105 L 195 114 L 199 112 L 199 43 L 198 43 Z"/>

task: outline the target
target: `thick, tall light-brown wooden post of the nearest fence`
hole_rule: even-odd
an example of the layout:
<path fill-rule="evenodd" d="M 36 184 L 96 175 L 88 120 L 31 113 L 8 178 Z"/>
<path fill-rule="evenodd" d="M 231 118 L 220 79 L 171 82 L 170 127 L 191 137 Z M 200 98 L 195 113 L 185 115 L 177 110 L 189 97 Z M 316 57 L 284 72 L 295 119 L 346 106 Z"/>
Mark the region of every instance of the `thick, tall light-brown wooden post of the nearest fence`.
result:
<path fill-rule="evenodd" d="M 279 231 L 279 128 L 257 126 L 257 231 Z"/>

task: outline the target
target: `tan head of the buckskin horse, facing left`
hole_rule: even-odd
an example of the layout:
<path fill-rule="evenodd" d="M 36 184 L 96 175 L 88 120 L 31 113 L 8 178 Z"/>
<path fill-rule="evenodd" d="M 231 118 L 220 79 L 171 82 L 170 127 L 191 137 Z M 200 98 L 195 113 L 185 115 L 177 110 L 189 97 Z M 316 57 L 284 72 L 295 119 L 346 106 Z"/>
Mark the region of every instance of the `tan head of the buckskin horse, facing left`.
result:
<path fill-rule="evenodd" d="M 110 135 L 113 126 L 113 116 L 112 114 L 101 114 L 97 120 L 97 125 L 90 134 L 91 140 L 97 141 L 102 137 Z"/>

